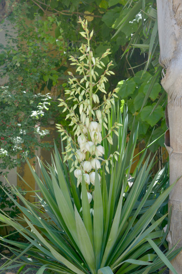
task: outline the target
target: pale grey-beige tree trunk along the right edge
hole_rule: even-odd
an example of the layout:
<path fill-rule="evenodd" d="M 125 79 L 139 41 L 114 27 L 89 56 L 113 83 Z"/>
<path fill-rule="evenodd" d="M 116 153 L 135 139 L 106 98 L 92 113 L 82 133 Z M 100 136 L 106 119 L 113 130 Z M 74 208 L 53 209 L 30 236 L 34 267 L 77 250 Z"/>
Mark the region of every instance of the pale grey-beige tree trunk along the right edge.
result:
<path fill-rule="evenodd" d="M 182 246 L 182 0 L 157 0 L 160 42 L 159 62 L 164 68 L 162 86 L 168 94 L 165 146 L 169 153 L 170 184 L 178 182 L 170 193 L 172 216 L 169 248 L 178 241 Z M 172 260 L 182 273 L 182 252 Z M 171 272 L 172 273 L 172 272 Z"/>

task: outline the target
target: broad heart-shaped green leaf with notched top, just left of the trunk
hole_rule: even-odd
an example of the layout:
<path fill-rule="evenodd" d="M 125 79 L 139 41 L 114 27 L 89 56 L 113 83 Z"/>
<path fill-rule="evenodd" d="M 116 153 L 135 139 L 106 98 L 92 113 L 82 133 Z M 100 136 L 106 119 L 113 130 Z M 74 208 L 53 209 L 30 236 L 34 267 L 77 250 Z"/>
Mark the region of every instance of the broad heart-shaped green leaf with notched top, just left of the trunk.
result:
<path fill-rule="evenodd" d="M 156 110 L 152 112 L 152 106 L 146 106 L 141 111 L 142 121 L 148 122 L 151 127 L 157 124 L 157 122 L 159 122 L 159 120 L 164 116 L 164 112 L 161 107 L 157 107 Z"/>

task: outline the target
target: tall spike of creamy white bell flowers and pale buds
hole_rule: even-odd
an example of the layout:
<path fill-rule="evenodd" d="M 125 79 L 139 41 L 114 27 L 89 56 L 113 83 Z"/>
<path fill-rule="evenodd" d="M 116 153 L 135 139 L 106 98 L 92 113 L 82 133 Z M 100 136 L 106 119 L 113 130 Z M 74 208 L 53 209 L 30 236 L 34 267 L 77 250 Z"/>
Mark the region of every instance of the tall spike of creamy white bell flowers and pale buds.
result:
<path fill-rule="evenodd" d="M 113 145 L 112 134 L 114 132 L 118 135 L 117 129 L 121 125 L 115 123 L 111 126 L 108 122 L 111 105 L 114 103 L 114 97 L 117 97 L 117 89 L 107 95 L 105 91 L 105 83 L 108 82 L 107 75 L 114 74 L 109 70 L 112 61 L 105 67 L 101 59 L 109 55 L 110 50 L 106 50 L 100 58 L 94 57 L 90 48 L 93 31 L 89 34 L 87 20 L 80 18 L 79 23 L 82 24 L 84 32 L 80 34 L 86 39 L 86 44 L 82 44 L 79 49 L 82 56 L 78 59 L 70 56 L 69 60 L 72 61 L 71 65 L 77 66 L 76 73 L 83 74 L 83 77 L 79 80 L 80 77 L 68 73 L 70 75 L 68 83 L 71 88 L 66 90 L 65 94 L 69 96 L 67 100 L 74 102 L 72 107 L 69 108 L 64 99 L 59 99 L 59 106 L 64 107 L 63 112 L 67 112 L 66 119 L 71 120 L 69 125 L 73 126 L 75 139 L 73 140 L 67 134 L 62 125 L 57 125 L 57 128 L 61 132 L 62 140 L 67 140 L 66 151 L 63 152 L 64 162 L 72 161 L 70 172 L 74 170 L 77 187 L 84 178 L 90 203 L 95 185 L 96 169 L 99 181 L 101 181 L 101 165 L 105 164 L 105 169 L 109 172 L 108 161 L 112 161 L 113 155 L 117 160 L 117 151 L 113 155 L 104 155 L 103 140 L 106 138 L 108 143 Z M 98 68 L 103 71 L 101 75 L 98 73 Z M 98 92 L 104 93 L 102 102 L 100 102 Z M 80 115 L 76 110 L 79 110 Z"/>

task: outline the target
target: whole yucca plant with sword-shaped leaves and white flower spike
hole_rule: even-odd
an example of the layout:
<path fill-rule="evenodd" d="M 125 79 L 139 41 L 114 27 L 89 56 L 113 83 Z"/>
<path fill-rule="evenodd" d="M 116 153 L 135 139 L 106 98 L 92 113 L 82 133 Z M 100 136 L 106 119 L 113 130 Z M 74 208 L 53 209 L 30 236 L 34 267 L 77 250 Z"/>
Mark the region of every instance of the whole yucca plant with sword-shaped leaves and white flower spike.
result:
<path fill-rule="evenodd" d="M 112 62 L 104 68 L 101 59 L 109 50 L 95 58 L 90 49 L 93 31 L 89 34 L 87 21 L 80 19 L 79 23 L 86 44 L 80 48 L 79 61 L 73 56 L 70 59 L 83 78 L 79 82 L 70 73 L 66 93 L 75 105 L 69 109 L 66 101 L 60 103 L 68 112 L 66 119 L 71 119 L 75 136 L 71 138 L 57 125 L 63 138 L 62 155 L 55 146 L 51 165 L 39 161 L 41 178 L 29 164 L 39 186 L 33 191 L 36 203 L 26 201 L 12 187 L 24 206 L 9 197 L 23 215 L 15 220 L 0 214 L 0 220 L 28 242 L 1 237 L 2 243 L 11 244 L 15 257 L 0 270 L 20 266 L 18 273 L 26 273 L 23 266 L 30 264 L 32 269 L 39 266 L 37 274 L 148 274 L 166 265 L 176 273 L 170 260 L 181 249 L 167 251 L 168 229 L 164 232 L 163 226 L 169 221 L 167 214 L 161 214 L 173 185 L 157 195 L 159 185 L 166 181 L 166 169 L 153 176 L 154 158 L 145 158 L 146 149 L 131 176 L 137 129 L 133 123 L 128 140 L 127 108 L 121 114 L 113 98 L 116 90 L 108 95 L 105 91 Z M 102 102 L 97 92 L 106 93 Z M 12 266 L 12 262 L 17 264 Z"/>

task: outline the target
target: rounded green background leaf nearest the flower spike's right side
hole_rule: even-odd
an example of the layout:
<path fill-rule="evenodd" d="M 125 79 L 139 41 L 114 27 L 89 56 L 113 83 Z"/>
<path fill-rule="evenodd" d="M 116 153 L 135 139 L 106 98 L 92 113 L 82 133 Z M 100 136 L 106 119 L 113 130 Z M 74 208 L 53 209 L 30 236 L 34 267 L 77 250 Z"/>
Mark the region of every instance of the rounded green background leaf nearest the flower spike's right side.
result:
<path fill-rule="evenodd" d="M 118 94 L 122 99 L 127 98 L 134 92 L 135 87 L 136 83 L 134 82 L 133 78 L 129 80 L 122 80 L 117 84 L 117 88 L 119 88 Z"/>

